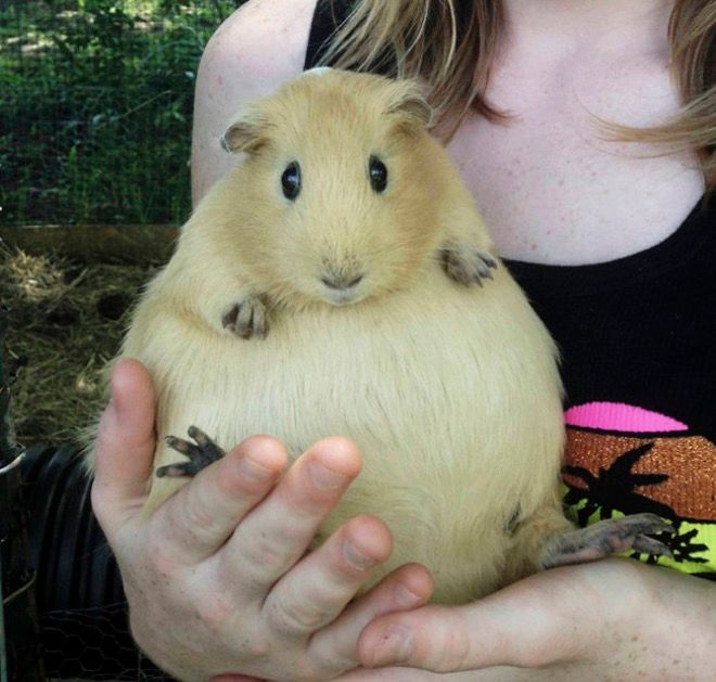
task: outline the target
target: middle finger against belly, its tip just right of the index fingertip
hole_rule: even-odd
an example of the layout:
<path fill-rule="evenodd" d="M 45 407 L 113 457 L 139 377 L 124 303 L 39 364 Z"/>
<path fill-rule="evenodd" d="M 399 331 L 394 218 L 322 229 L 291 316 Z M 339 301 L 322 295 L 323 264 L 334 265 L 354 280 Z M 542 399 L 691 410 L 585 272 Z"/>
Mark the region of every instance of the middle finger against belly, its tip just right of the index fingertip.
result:
<path fill-rule="evenodd" d="M 222 555 L 227 579 L 263 599 L 304 555 L 359 471 L 360 453 L 344 438 L 309 448 L 234 532 Z"/>

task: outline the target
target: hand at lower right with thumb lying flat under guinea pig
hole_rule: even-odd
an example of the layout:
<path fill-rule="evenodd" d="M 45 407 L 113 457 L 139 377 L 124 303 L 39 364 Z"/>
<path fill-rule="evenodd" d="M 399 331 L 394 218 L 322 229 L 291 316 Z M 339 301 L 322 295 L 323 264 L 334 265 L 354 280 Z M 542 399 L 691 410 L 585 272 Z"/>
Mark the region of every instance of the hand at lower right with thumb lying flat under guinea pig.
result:
<path fill-rule="evenodd" d="M 713 680 L 716 586 L 609 559 L 548 570 L 473 604 L 383 616 L 346 681 Z M 508 667 L 504 667 L 508 666 Z M 443 675 L 439 675 L 443 679 Z"/>

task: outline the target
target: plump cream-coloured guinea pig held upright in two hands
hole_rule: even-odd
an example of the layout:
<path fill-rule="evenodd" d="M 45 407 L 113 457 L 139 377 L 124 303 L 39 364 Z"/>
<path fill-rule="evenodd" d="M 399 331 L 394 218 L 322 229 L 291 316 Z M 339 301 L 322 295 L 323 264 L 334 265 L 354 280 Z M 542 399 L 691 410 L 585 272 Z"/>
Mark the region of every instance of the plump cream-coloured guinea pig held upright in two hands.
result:
<path fill-rule="evenodd" d="M 373 582 L 419 562 L 434 601 L 459 603 L 632 544 L 665 552 L 643 535 L 656 517 L 574 530 L 563 516 L 554 344 L 430 118 L 414 82 L 322 69 L 228 128 L 242 158 L 183 226 L 122 350 L 157 391 L 146 513 L 251 435 L 293 458 L 342 435 L 363 467 L 316 542 L 381 517 L 394 552 Z"/>

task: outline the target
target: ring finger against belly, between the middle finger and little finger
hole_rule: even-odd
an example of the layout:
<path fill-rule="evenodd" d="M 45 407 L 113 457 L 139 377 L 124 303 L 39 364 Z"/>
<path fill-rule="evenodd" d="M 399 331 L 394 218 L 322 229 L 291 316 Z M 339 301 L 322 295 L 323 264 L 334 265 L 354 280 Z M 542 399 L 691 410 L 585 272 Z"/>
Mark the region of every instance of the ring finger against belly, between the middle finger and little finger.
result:
<path fill-rule="evenodd" d="M 273 587 L 261 609 L 269 628 L 302 639 L 328 625 L 392 550 L 383 522 L 351 518 Z"/>

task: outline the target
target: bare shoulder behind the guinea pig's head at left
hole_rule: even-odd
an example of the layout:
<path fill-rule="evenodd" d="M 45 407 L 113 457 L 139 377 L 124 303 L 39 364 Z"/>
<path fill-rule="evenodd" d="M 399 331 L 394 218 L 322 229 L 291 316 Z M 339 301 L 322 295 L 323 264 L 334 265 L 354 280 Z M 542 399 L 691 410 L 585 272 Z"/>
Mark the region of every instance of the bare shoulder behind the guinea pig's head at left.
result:
<path fill-rule="evenodd" d="M 236 112 L 302 73 L 316 2 L 250 0 L 206 44 L 194 96 L 194 203 L 233 165 L 219 140 Z"/>

